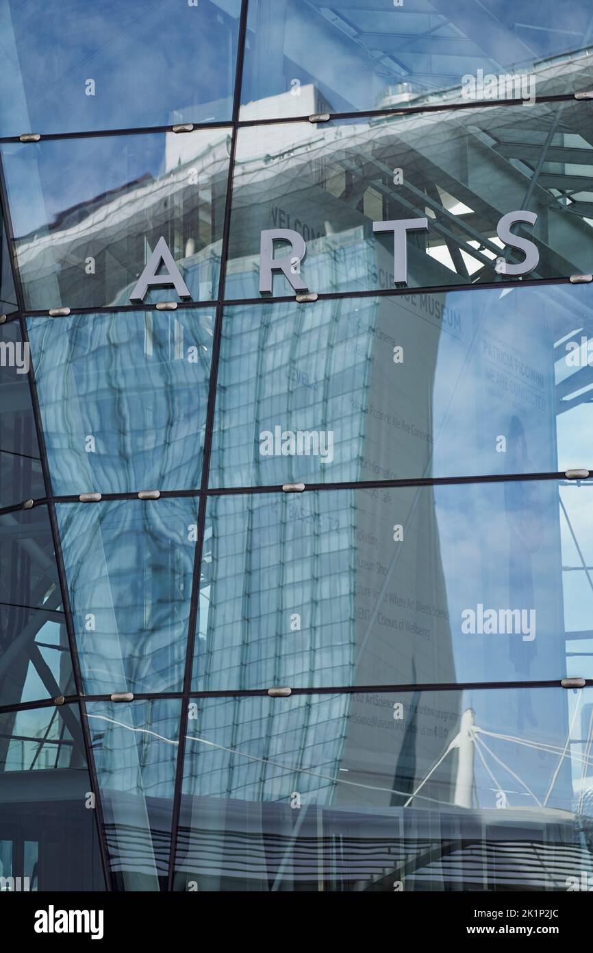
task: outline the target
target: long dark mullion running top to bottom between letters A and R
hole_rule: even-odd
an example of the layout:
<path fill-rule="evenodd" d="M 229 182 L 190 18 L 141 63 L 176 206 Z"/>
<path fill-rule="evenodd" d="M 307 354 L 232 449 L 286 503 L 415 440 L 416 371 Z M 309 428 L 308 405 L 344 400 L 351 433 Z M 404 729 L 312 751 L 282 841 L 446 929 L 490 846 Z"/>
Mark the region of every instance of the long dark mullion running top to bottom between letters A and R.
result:
<path fill-rule="evenodd" d="M 181 709 L 181 721 L 179 725 L 179 746 L 177 750 L 177 766 L 175 774 L 175 788 L 173 792 L 173 805 L 171 815 L 171 840 L 170 853 L 168 858 L 168 882 L 167 889 L 171 892 L 173 889 L 173 880 L 175 877 L 175 861 L 177 853 L 179 818 L 181 815 L 181 798 L 184 778 L 184 762 L 186 754 L 186 735 L 188 732 L 188 705 L 189 692 L 191 689 L 191 676 L 193 670 L 193 652 L 195 645 L 195 630 L 198 618 L 198 608 L 200 602 L 200 578 L 202 574 L 202 551 L 204 548 L 204 537 L 206 533 L 206 506 L 207 497 L 204 491 L 208 489 L 208 474 L 210 468 L 210 453 L 212 447 L 212 430 L 214 427 L 214 406 L 216 402 L 216 385 L 218 380 L 218 361 L 220 355 L 221 339 L 223 334 L 223 300 L 225 286 L 227 281 L 227 259 L 228 245 L 230 240 L 230 212 L 232 206 L 233 178 L 235 170 L 235 153 L 237 150 L 237 137 L 239 126 L 239 109 L 241 105 L 241 88 L 243 84 L 243 64 L 245 59 L 245 45 L 247 37 L 247 0 L 241 0 L 241 14 L 239 18 L 239 34 L 237 38 L 237 62 L 235 65 L 235 87 L 233 95 L 232 109 L 232 138 L 230 142 L 230 152 L 228 156 L 227 172 L 227 194 L 225 196 L 225 219 L 223 223 L 223 237 L 221 246 L 220 272 L 218 275 L 218 297 L 216 305 L 216 317 L 212 334 L 212 356 L 210 360 L 210 379 L 208 386 L 208 409 L 206 415 L 206 427 L 204 434 L 204 457 L 202 463 L 202 482 L 200 505 L 198 508 L 198 533 L 193 563 L 193 576 L 191 580 L 191 595 L 189 602 L 188 618 L 188 640 L 186 646 L 186 667 L 184 672 L 183 702 Z"/>

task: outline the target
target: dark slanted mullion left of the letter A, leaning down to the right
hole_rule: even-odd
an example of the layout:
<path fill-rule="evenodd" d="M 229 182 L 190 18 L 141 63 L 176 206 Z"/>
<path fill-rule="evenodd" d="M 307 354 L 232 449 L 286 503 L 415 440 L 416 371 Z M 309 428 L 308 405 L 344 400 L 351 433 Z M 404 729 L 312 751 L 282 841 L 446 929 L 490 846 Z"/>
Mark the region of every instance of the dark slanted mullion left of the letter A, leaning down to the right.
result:
<path fill-rule="evenodd" d="M 12 228 L 12 219 L 10 215 L 10 205 L 8 200 L 8 192 L 6 189 L 6 181 L 4 177 L 4 166 L 2 163 L 2 158 L 0 156 L 0 208 L 2 209 L 3 219 L 4 219 L 4 228 L 7 234 L 7 244 L 10 254 L 10 270 L 12 274 L 12 280 L 14 282 L 14 290 L 16 293 L 16 300 L 19 308 L 19 324 L 21 329 L 21 335 L 23 342 L 27 345 L 30 344 L 29 334 L 27 331 L 27 322 L 23 316 L 25 309 L 25 296 L 23 293 L 23 286 L 21 284 L 20 273 L 18 271 L 18 264 L 16 258 L 16 242 L 14 238 L 14 231 Z M 74 686 L 76 688 L 77 694 L 77 703 L 78 703 L 78 713 L 80 718 L 80 726 L 83 735 L 83 742 L 85 745 L 85 757 L 87 760 L 87 769 L 89 771 L 89 781 L 91 789 L 94 792 L 95 799 L 95 822 L 97 837 L 99 841 L 99 850 L 101 853 L 101 863 L 103 866 L 103 877 L 105 882 L 106 890 L 109 892 L 111 890 L 111 875 L 109 869 L 109 859 L 107 854 L 107 844 L 103 840 L 103 830 L 105 829 L 104 825 L 104 816 L 103 816 L 103 807 L 101 803 L 101 797 L 99 792 L 99 785 L 97 781 L 97 774 L 94 764 L 94 759 L 92 757 L 92 746 L 90 742 L 89 735 L 89 725 L 86 718 L 86 711 L 82 702 L 82 678 L 80 672 L 80 662 L 78 659 L 78 651 L 76 648 L 76 639 L 74 637 L 74 627 L 71 616 L 71 609 L 69 604 L 69 592 L 68 592 L 68 583 L 66 578 L 66 572 L 64 567 L 64 559 L 62 556 L 62 545 L 59 535 L 59 529 L 57 525 L 57 519 L 54 511 L 54 504 L 50 500 L 52 496 L 51 488 L 51 476 L 49 473 L 49 460 L 45 442 L 45 436 L 43 432 L 43 425 L 41 422 L 41 410 L 39 405 L 39 398 L 37 395 L 37 388 L 35 385 L 35 376 L 33 372 L 32 362 L 30 361 L 30 367 L 28 372 L 29 378 L 29 389 L 30 389 L 30 400 L 31 400 L 31 409 L 33 414 L 33 420 L 35 423 L 35 433 L 37 436 L 37 445 L 39 448 L 39 456 L 41 459 L 41 470 L 43 474 L 44 485 L 46 488 L 46 494 L 48 497 L 48 514 L 49 514 L 49 525 L 51 528 L 51 538 L 53 543 L 53 553 L 54 559 L 57 568 L 58 582 L 60 586 L 60 593 L 62 596 L 62 606 L 64 608 L 64 619 L 66 624 L 66 631 L 68 634 L 69 642 L 69 653 L 70 653 L 70 662 L 72 666 L 72 675 L 74 679 Z"/>

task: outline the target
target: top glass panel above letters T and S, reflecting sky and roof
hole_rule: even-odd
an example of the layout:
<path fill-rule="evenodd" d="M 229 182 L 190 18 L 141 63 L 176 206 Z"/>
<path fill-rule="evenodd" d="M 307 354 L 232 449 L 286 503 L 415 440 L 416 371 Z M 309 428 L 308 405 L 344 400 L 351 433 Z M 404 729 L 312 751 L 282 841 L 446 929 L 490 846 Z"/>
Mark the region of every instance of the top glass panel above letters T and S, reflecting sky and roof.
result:
<path fill-rule="evenodd" d="M 249 0 L 242 119 L 588 89 L 587 0 Z"/>

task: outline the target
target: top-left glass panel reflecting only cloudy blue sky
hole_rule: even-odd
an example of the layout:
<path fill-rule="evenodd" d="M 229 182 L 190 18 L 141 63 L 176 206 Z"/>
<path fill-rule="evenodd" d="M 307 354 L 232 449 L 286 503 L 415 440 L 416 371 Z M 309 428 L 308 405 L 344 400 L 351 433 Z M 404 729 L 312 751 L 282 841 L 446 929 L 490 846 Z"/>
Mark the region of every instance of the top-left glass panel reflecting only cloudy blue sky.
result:
<path fill-rule="evenodd" d="M 33 9 L 5 0 L 0 135 L 230 119 L 240 8 L 240 0 L 48 0 Z"/>

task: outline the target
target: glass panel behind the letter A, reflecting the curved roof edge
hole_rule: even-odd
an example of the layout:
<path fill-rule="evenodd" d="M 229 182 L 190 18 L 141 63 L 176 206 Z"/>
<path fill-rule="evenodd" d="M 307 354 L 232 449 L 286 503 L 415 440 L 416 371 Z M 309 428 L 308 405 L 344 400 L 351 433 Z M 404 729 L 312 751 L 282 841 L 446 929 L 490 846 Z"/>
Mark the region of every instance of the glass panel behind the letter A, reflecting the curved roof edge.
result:
<path fill-rule="evenodd" d="M 129 304 L 160 237 L 193 300 L 218 288 L 227 130 L 2 146 L 29 310 Z M 148 301 L 177 300 L 171 289 Z"/>

